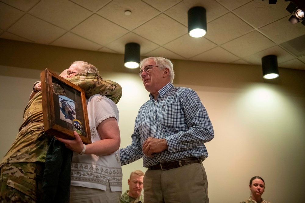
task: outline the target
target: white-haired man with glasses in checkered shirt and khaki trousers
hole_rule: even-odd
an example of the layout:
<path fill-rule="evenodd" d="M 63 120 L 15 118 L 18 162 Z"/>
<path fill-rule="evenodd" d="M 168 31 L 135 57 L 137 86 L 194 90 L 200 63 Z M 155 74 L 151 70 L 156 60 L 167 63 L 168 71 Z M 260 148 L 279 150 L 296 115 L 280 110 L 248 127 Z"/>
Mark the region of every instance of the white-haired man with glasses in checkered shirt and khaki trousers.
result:
<path fill-rule="evenodd" d="M 213 126 L 197 93 L 174 87 L 173 64 L 145 58 L 140 77 L 150 93 L 135 120 L 132 142 L 120 149 L 121 164 L 143 157 L 145 203 L 209 202 L 202 161 Z"/>

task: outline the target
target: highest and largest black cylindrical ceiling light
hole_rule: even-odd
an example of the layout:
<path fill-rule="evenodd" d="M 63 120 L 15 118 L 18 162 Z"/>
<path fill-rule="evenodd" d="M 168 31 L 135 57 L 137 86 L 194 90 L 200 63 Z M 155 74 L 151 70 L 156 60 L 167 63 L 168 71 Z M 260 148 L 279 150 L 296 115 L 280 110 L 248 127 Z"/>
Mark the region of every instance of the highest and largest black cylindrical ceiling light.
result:
<path fill-rule="evenodd" d="M 196 6 L 188 10 L 188 35 L 203 37 L 206 34 L 206 9 Z"/>

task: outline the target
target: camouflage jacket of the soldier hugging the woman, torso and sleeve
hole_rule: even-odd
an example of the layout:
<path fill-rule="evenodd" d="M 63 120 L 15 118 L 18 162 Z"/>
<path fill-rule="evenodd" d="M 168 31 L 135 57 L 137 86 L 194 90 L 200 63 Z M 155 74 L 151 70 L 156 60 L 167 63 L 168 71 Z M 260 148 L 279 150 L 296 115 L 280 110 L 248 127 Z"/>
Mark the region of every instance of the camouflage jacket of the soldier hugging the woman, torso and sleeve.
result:
<path fill-rule="evenodd" d="M 118 103 L 122 87 L 116 82 L 104 80 L 97 73 L 87 73 L 66 78 L 85 90 L 86 98 L 94 94 L 107 96 Z M 45 162 L 51 136 L 44 133 L 41 91 L 27 104 L 23 113 L 23 123 L 17 138 L 0 163 Z"/>

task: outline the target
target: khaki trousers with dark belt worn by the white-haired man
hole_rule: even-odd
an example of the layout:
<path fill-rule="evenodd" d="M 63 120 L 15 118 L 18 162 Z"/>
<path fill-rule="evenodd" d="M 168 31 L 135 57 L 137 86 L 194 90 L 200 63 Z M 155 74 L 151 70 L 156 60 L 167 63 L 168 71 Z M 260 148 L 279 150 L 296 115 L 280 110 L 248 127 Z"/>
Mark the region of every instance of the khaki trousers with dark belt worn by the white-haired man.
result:
<path fill-rule="evenodd" d="M 145 203 L 209 203 L 202 163 L 170 170 L 147 170 L 143 181 Z"/>

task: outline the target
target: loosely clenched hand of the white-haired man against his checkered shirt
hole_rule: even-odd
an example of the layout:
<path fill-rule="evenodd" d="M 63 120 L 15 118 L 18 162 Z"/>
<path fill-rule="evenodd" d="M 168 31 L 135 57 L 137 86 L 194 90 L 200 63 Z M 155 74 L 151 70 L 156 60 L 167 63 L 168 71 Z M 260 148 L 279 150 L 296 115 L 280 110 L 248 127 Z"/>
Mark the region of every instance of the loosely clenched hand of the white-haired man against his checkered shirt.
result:
<path fill-rule="evenodd" d="M 152 153 L 163 152 L 165 149 L 167 149 L 166 139 L 149 137 L 143 144 L 143 153 L 146 156 L 152 156 Z"/>

